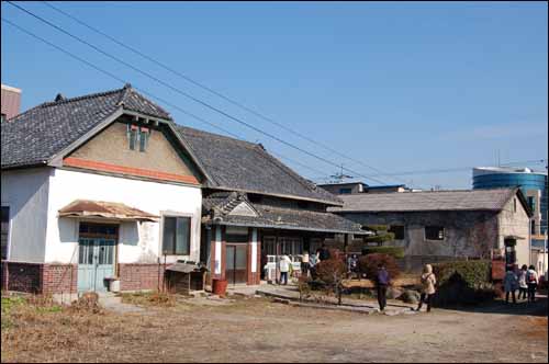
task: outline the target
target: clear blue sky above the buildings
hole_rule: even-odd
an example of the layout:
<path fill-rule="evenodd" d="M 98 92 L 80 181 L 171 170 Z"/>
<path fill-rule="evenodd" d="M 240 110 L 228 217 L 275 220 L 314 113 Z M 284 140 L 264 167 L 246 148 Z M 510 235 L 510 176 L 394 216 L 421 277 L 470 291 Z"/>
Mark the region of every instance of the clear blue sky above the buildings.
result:
<path fill-rule="evenodd" d="M 43 3 L 20 4 L 170 84 L 355 172 L 422 187 L 471 185 L 467 169 L 379 175 L 209 94 Z M 547 158 L 546 2 L 54 4 L 383 173 L 494 164 L 497 150 L 502 162 Z M 336 172 L 335 167 L 215 114 L 3 1 L 2 18 L 298 160 L 309 168 L 287 163 L 307 178 L 320 182 Z M 121 87 L 3 22 L 1 46 L 2 83 L 23 90 L 23 110 L 53 100 L 58 92 L 76 96 Z M 167 109 L 180 124 L 215 132 Z"/>

